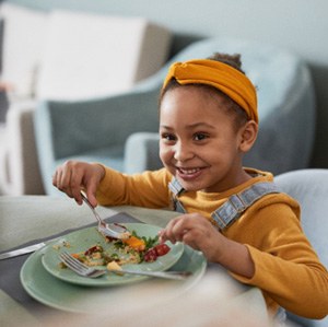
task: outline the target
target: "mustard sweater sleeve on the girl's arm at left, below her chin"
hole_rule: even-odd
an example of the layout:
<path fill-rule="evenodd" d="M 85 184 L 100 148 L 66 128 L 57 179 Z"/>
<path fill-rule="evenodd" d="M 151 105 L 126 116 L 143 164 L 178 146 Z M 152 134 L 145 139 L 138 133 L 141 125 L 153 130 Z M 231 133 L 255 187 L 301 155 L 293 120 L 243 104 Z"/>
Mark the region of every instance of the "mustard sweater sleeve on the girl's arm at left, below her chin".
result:
<path fill-rule="evenodd" d="M 105 167 L 106 174 L 98 186 L 96 198 L 103 206 L 137 206 L 167 208 L 171 176 L 166 170 L 126 175 Z"/>

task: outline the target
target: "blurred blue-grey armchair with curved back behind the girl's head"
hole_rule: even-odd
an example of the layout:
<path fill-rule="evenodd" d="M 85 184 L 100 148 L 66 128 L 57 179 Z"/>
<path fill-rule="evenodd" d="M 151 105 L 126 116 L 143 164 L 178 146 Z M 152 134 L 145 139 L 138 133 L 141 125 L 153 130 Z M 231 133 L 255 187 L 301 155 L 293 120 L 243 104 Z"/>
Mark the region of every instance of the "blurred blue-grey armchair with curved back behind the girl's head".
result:
<path fill-rule="evenodd" d="M 258 87 L 260 129 L 245 165 L 274 174 L 308 165 L 315 132 L 315 95 L 306 65 L 277 47 L 232 38 L 192 43 L 131 92 L 87 102 L 42 102 L 35 113 L 39 164 L 47 194 L 67 159 L 102 161 L 127 173 L 154 170 L 159 160 L 157 95 L 173 61 L 241 52 Z M 141 132 L 141 135 L 139 133 Z"/>

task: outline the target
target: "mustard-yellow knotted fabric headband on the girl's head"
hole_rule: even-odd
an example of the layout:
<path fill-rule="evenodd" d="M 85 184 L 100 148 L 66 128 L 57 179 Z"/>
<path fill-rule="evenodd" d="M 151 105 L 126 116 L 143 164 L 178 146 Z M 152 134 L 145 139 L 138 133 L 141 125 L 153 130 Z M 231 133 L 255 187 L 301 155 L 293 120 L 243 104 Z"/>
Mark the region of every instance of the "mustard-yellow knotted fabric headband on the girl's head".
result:
<path fill-rule="evenodd" d="M 249 119 L 258 122 L 256 89 L 245 74 L 230 65 L 210 59 L 175 62 L 168 70 L 163 89 L 173 78 L 183 85 L 197 83 L 219 89 L 235 101 Z"/>

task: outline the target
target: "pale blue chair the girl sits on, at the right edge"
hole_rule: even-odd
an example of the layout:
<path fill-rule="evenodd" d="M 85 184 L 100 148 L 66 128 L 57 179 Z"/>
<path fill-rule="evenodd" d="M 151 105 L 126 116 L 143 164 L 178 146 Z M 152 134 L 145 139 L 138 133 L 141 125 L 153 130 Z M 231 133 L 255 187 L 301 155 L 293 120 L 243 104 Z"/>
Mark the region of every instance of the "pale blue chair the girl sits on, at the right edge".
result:
<path fill-rule="evenodd" d="M 300 202 L 304 233 L 328 269 L 328 170 L 298 170 L 278 175 L 274 180 L 281 190 Z M 328 317 L 309 320 L 289 316 L 304 327 L 328 326 Z"/>

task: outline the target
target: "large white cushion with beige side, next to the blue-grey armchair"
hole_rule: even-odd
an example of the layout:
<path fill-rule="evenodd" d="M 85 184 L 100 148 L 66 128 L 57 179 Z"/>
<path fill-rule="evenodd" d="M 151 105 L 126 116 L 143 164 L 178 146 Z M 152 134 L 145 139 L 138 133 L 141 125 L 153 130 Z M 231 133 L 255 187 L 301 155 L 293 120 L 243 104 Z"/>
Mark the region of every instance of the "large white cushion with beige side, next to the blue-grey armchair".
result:
<path fill-rule="evenodd" d="M 83 100 L 127 91 L 162 67 L 169 36 L 140 17 L 54 11 L 37 96 Z"/>

